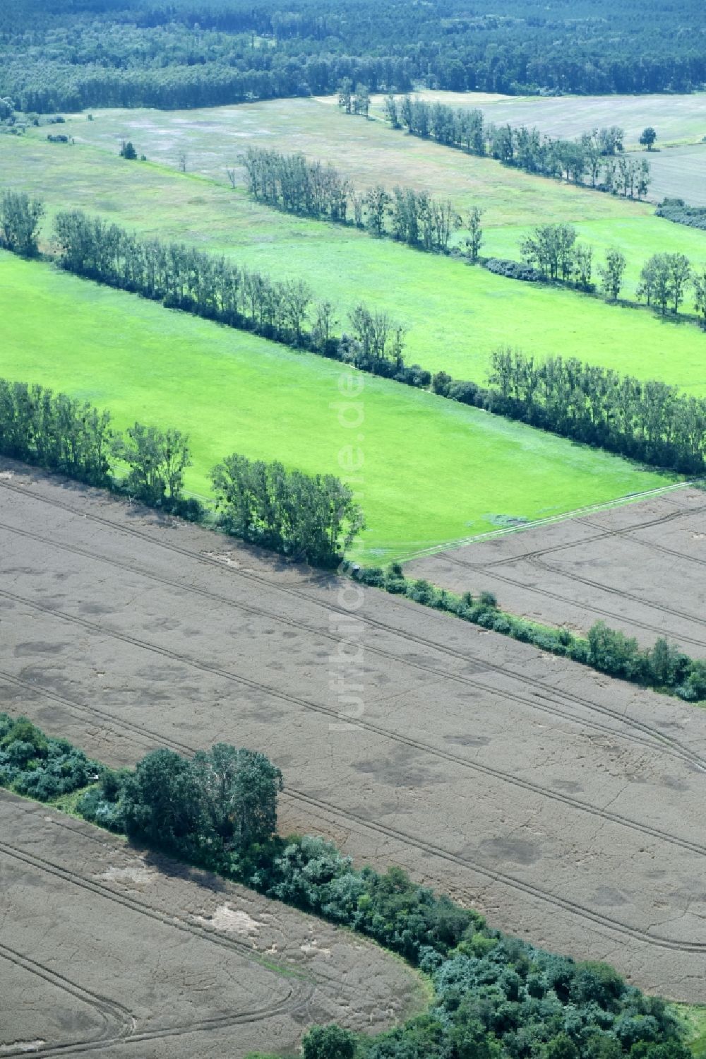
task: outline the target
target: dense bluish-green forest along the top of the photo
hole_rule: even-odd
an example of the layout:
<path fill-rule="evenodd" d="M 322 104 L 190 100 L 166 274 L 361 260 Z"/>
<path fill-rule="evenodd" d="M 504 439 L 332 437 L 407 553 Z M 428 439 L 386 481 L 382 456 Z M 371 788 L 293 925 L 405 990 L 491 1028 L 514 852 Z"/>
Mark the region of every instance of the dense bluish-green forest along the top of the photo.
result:
<path fill-rule="evenodd" d="M 417 85 L 463 91 L 690 91 L 706 80 L 701 0 L 488 0 L 355 8 L 314 0 L 39 0 L 0 11 L 0 96 L 50 113 L 182 108 Z"/>

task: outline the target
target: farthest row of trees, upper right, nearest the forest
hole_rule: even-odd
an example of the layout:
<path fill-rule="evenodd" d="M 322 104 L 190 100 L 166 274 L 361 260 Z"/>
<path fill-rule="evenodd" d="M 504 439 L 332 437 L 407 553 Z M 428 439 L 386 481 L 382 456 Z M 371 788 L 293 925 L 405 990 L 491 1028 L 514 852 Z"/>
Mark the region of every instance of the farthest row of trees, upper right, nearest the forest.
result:
<path fill-rule="evenodd" d="M 392 94 L 385 98 L 385 116 L 393 128 L 497 159 L 525 173 L 563 177 L 626 198 L 641 199 L 650 185 L 649 162 L 622 154 L 624 131 L 617 125 L 592 129 L 577 140 L 553 139 L 537 127 L 486 123 L 483 111 L 474 108 L 409 95 L 398 100 Z"/>

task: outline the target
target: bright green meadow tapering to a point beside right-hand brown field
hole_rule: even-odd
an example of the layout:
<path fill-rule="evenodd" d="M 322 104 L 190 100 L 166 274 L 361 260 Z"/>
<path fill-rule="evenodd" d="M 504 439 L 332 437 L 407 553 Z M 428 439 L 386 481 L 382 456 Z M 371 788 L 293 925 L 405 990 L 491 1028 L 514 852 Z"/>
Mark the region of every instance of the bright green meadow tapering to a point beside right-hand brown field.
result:
<path fill-rule="evenodd" d="M 341 426 L 341 365 L 7 253 L 0 253 L 0 375 L 107 407 L 120 427 L 140 419 L 187 431 L 186 484 L 199 495 L 209 492 L 209 469 L 232 451 L 341 474 L 339 453 L 360 447 L 367 561 L 404 558 L 507 517 L 560 515 L 669 482 L 369 376 L 360 376 L 364 421 Z"/>

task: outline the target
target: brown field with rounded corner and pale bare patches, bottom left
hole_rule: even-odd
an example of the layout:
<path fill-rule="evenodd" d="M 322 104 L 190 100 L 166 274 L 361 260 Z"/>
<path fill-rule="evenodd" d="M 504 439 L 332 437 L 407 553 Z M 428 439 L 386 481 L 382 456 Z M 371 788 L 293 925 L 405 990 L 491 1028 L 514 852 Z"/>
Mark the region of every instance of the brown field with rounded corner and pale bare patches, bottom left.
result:
<path fill-rule="evenodd" d="M 0 834 L 2 1056 L 236 1057 L 420 1006 L 377 946 L 46 806 L 0 792 Z"/>

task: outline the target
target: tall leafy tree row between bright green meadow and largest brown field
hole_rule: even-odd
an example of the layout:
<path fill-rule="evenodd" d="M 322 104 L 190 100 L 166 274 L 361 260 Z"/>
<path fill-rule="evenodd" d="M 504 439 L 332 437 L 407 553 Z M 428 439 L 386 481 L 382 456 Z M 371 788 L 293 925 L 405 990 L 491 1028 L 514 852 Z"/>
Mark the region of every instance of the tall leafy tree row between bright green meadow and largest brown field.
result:
<path fill-rule="evenodd" d="M 194 521 L 206 515 L 183 495 L 186 434 L 140 423 L 116 430 L 109 412 L 46 387 L 0 378 L 0 453 Z M 337 564 L 365 525 L 352 490 L 332 474 L 233 453 L 211 479 L 222 528 L 314 566 Z"/>

